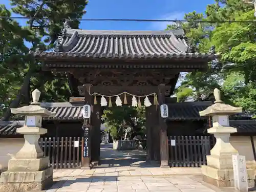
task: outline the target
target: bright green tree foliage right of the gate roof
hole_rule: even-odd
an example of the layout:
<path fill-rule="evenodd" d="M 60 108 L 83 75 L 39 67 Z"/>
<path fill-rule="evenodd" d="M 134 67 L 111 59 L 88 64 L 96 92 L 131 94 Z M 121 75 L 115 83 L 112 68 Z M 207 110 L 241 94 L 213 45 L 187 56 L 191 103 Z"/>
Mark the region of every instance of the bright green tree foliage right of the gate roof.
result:
<path fill-rule="evenodd" d="M 215 88 L 224 93 L 225 102 L 242 106 L 256 113 L 256 44 L 255 23 L 222 23 L 227 20 L 254 20 L 252 5 L 242 0 L 220 1 L 206 7 L 205 14 L 188 13 L 185 19 L 195 21 L 182 24 L 190 45 L 197 52 L 207 52 L 211 46 L 220 54 L 209 63 L 208 72 L 187 73 L 176 90 L 178 101 L 187 98 L 204 100 Z M 199 23 L 198 20 L 209 23 Z M 167 29 L 175 25 L 167 26 Z"/>

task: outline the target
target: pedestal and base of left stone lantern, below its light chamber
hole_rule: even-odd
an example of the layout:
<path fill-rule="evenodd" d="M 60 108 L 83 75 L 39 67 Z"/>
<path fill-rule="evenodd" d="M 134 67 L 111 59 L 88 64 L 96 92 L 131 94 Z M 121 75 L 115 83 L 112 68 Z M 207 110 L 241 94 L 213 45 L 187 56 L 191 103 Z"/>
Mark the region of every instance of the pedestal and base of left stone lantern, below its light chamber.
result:
<path fill-rule="evenodd" d="M 52 184 L 53 168 L 49 157 L 44 157 L 38 139 L 47 130 L 23 126 L 17 133 L 24 134 L 25 143 L 8 162 L 8 170 L 1 174 L 1 191 L 42 190 Z"/>

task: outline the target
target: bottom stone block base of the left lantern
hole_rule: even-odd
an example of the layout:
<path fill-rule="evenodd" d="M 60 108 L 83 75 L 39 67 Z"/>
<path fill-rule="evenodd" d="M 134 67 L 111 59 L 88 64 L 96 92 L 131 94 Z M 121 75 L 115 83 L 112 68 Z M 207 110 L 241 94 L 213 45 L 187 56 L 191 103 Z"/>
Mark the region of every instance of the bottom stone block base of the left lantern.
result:
<path fill-rule="evenodd" d="M 7 170 L 1 174 L 0 191 L 18 192 L 45 190 L 53 184 L 53 168 L 37 172 L 13 172 Z"/>

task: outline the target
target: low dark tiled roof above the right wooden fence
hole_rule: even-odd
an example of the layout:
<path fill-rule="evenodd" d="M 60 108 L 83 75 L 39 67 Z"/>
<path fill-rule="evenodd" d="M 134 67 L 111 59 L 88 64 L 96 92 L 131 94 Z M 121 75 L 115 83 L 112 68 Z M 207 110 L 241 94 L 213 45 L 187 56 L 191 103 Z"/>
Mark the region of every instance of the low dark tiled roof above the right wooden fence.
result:
<path fill-rule="evenodd" d="M 211 101 L 169 103 L 168 119 L 173 121 L 208 119 L 208 117 L 201 117 L 199 111 L 205 110 L 211 104 Z"/>

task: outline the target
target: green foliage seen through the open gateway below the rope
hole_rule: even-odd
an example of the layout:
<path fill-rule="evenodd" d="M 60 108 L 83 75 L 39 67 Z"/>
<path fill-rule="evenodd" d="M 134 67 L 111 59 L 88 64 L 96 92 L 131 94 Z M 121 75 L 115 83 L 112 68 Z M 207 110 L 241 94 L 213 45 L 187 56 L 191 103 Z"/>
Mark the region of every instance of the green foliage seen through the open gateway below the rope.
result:
<path fill-rule="evenodd" d="M 128 138 L 133 139 L 137 135 L 143 136 L 145 131 L 145 108 L 133 106 L 113 106 L 104 110 L 102 115 L 106 127 L 113 139 L 124 137 L 125 131 L 130 129 Z"/>

